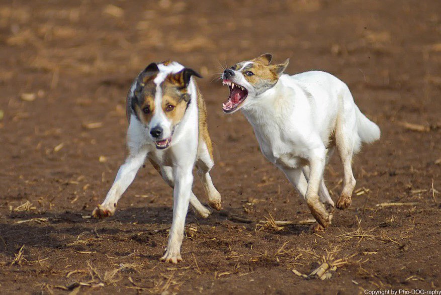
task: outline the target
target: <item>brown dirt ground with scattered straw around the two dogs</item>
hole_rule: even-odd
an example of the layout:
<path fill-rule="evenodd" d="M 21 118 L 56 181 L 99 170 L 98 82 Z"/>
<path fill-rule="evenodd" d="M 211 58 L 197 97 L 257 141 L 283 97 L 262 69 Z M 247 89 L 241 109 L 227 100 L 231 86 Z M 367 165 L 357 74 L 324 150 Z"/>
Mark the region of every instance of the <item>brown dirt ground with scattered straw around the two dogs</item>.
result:
<path fill-rule="evenodd" d="M 439 290 L 440 37 L 437 0 L 2 1 L 0 293 Z M 222 67 L 267 52 L 341 78 L 382 131 L 354 160 L 352 206 L 320 234 L 243 115 L 222 112 Z M 172 191 L 149 164 L 115 216 L 90 218 L 126 156 L 130 82 L 166 59 L 204 76 L 224 208 L 189 212 L 178 265 L 158 261 Z M 325 178 L 335 200 L 337 156 Z M 292 271 L 322 259 L 342 259 L 330 279 Z"/>

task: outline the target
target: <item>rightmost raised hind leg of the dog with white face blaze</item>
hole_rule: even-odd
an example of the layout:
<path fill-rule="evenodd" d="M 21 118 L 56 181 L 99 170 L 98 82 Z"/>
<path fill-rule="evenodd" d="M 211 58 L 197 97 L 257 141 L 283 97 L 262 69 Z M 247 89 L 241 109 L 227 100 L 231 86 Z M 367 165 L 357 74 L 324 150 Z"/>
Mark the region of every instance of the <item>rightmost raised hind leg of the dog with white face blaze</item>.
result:
<path fill-rule="evenodd" d="M 208 138 L 208 140 L 207 140 Z M 205 193 L 208 198 L 208 204 L 211 208 L 216 210 L 221 210 L 221 195 L 214 187 L 213 181 L 211 180 L 210 170 L 214 165 L 213 156 L 211 152 L 211 140 L 208 137 L 204 141 L 199 142 L 198 148 L 198 159 L 196 160 L 196 167 L 198 176 L 201 179 L 202 186 L 204 187 Z"/>

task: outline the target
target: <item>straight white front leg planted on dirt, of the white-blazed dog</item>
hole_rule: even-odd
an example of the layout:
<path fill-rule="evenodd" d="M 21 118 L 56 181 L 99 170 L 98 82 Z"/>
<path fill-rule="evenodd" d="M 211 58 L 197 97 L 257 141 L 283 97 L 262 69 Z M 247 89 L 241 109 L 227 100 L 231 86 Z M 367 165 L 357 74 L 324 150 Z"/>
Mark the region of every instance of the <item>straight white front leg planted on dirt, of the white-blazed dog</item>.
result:
<path fill-rule="evenodd" d="M 168 236 L 168 245 L 162 261 L 178 263 L 182 261 L 181 244 L 184 239 L 185 218 L 192 192 L 193 174 L 191 168 L 173 168 L 175 179 L 173 189 L 173 221 Z"/>

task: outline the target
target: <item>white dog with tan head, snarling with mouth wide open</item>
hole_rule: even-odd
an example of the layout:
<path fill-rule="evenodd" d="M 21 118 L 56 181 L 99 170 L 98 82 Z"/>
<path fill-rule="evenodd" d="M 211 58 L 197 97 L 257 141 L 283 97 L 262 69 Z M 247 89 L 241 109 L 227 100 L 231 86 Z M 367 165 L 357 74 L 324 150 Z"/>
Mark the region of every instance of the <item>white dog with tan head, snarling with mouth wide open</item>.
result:
<path fill-rule="evenodd" d="M 345 83 L 335 76 L 310 71 L 284 74 L 288 66 L 270 65 L 264 54 L 242 61 L 222 74 L 230 88 L 225 113 L 241 110 L 254 129 L 263 155 L 280 168 L 308 204 L 318 224 L 331 224 L 334 202 L 323 180 L 335 147 L 344 168 L 337 208 L 351 204 L 356 181 L 351 159 L 362 142 L 380 138 L 380 129 L 364 116 Z"/>

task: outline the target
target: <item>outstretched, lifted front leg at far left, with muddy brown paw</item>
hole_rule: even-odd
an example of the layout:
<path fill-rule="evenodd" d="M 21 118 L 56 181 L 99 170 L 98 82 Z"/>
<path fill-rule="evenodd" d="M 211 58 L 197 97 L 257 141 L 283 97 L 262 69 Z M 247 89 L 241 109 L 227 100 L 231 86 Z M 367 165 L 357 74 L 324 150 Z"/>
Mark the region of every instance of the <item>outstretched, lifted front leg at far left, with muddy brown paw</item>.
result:
<path fill-rule="evenodd" d="M 132 183 L 141 165 L 144 163 L 147 151 L 139 151 L 134 155 L 130 155 L 124 164 L 118 170 L 115 181 L 112 184 L 106 199 L 101 205 L 95 208 L 92 216 L 95 218 L 105 218 L 115 213 L 118 200 L 126 191 L 127 187 Z"/>

